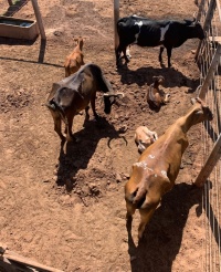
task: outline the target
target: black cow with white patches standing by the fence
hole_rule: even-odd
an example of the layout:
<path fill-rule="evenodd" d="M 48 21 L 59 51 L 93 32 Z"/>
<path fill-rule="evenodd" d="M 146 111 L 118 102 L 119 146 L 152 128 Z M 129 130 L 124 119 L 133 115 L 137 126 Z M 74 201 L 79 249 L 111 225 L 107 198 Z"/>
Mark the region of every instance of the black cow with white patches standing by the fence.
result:
<path fill-rule="evenodd" d="M 123 52 L 126 62 L 129 62 L 127 46 L 137 44 L 139 46 L 160 45 L 159 62 L 162 62 L 164 48 L 167 49 L 168 67 L 171 66 L 170 57 L 172 48 L 179 48 L 188 39 L 204 39 L 204 32 L 199 22 L 191 20 L 150 20 L 145 17 L 130 15 L 117 21 L 117 33 L 119 44 L 115 50 L 116 66 L 119 66 Z"/>

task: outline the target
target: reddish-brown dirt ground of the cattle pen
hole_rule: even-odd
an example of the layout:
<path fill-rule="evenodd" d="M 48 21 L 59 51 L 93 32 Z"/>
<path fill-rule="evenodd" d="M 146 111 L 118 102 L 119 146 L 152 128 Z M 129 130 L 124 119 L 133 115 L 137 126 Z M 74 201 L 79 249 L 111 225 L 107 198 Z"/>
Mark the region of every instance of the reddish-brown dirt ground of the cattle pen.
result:
<path fill-rule="evenodd" d="M 172 67 L 158 63 L 159 49 L 133 46 L 127 69 L 115 69 L 113 1 L 39 0 L 46 44 L 0 38 L 0 242 L 10 250 L 65 272 L 197 272 L 202 270 L 204 237 L 201 190 L 191 184 L 199 172 L 200 125 L 189 132 L 182 169 L 137 245 L 125 222 L 124 185 L 139 154 L 135 129 L 146 125 L 161 135 L 190 107 L 199 85 L 189 40 L 172 51 Z M 8 1 L 0 0 L 0 12 Z M 120 17 L 192 19 L 193 0 L 120 1 Z M 14 17 L 34 19 L 31 1 Z M 44 106 L 52 84 L 64 77 L 73 36 L 85 38 L 85 62 L 101 65 L 115 91 L 124 92 L 102 122 L 74 119 L 78 143 L 61 147 Z M 167 64 L 166 52 L 164 53 Z M 152 75 L 164 75 L 169 104 L 159 112 L 146 103 Z M 109 146 L 108 146 L 109 144 Z"/>

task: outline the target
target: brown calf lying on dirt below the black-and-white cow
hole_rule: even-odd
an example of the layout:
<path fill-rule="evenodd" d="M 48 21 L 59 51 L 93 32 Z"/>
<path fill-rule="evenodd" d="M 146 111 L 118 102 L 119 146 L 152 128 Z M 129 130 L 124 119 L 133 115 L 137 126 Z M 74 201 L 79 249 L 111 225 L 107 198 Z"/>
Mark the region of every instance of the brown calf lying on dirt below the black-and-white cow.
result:
<path fill-rule="evenodd" d="M 159 86 L 162 85 L 165 82 L 165 77 L 159 76 L 152 76 L 154 83 L 149 86 L 147 91 L 147 103 L 152 108 L 159 108 L 162 104 L 166 104 L 169 102 L 170 94 L 166 94 L 161 90 L 159 90 Z"/>

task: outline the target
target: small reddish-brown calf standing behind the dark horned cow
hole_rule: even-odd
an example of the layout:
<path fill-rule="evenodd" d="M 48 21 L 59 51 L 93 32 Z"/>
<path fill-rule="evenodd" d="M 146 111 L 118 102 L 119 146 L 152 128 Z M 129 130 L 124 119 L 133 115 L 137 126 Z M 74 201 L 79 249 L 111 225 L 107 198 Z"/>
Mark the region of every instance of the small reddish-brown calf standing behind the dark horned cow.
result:
<path fill-rule="evenodd" d="M 66 61 L 64 63 L 65 69 L 65 77 L 71 74 L 76 73 L 82 65 L 84 65 L 84 54 L 82 53 L 84 39 L 82 36 L 74 39 L 76 41 L 76 46 L 73 52 L 66 56 Z"/>

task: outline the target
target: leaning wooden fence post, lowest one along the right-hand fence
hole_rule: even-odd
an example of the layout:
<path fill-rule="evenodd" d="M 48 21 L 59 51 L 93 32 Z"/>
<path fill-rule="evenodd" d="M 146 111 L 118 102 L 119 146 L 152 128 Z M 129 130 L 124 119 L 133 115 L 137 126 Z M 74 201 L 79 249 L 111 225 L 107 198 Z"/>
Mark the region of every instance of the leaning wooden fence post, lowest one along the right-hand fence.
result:
<path fill-rule="evenodd" d="M 210 153 L 210 156 L 208 157 L 204 166 L 202 167 L 200 174 L 198 175 L 194 181 L 196 186 L 202 187 L 204 185 L 206 180 L 212 172 L 220 157 L 221 157 L 221 134 L 219 135 L 219 138 L 215 142 L 214 147 L 212 151 Z"/>

